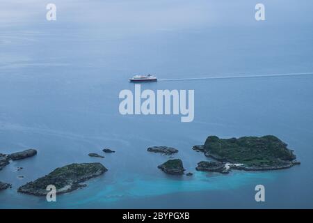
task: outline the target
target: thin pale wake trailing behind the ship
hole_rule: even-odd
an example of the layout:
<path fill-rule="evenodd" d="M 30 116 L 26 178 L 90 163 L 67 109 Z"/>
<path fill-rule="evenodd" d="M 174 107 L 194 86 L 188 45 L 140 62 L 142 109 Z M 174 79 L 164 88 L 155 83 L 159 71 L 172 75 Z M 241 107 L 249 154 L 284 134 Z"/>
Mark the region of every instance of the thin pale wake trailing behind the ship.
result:
<path fill-rule="evenodd" d="M 188 81 L 197 79 L 234 79 L 234 78 L 255 78 L 255 77 L 284 77 L 284 76 L 302 76 L 313 75 L 313 72 L 294 72 L 285 74 L 271 74 L 271 75 L 236 75 L 236 76 L 222 76 L 222 77 L 192 77 L 192 78 L 176 78 L 176 79 L 159 79 L 162 82 L 171 81 Z"/>

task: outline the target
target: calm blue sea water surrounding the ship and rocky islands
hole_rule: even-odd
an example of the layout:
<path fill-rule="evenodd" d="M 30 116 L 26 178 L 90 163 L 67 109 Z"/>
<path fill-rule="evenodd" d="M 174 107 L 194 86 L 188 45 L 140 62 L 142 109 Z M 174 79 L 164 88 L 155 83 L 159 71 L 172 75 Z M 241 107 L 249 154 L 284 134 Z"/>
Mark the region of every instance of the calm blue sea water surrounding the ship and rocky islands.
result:
<path fill-rule="evenodd" d="M 0 171 L 0 180 L 13 184 L 0 192 L 0 208 L 313 208 L 313 75 L 142 86 L 194 89 L 191 123 L 118 111 L 118 94 L 134 90 L 127 79 L 137 73 L 188 79 L 313 72 L 310 1 L 264 1 L 264 22 L 255 21 L 253 1 L 55 3 L 55 22 L 45 21 L 40 1 L 0 3 L 0 153 L 38 150 Z M 301 165 L 226 176 L 195 171 L 207 158 L 191 148 L 211 134 L 274 134 Z M 168 156 L 146 151 L 157 145 L 178 148 L 172 157 L 194 175 L 163 174 L 157 165 Z M 102 148 L 116 153 L 88 157 Z M 72 162 L 102 162 L 109 171 L 55 203 L 17 193 Z M 262 203 L 255 201 L 258 184 L 266 188 Z"/>

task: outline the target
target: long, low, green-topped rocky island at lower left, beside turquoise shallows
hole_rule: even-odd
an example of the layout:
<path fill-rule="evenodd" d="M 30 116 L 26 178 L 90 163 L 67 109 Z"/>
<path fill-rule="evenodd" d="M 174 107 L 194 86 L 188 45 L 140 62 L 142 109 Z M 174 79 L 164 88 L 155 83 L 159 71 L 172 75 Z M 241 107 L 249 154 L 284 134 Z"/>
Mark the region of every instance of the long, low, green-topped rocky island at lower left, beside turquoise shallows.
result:
<path fill-rule="evenodd" d="M 47 195 L 47 186 L 56 186 L 57 194 L 63 194 L 77 190 L 83 181 L 95 178 L 106 172 L 107 169 L 99 162 L 94 163 L 81 163 L 81 164 L 69 164 L 65 167 L 60 167 L 52 171 L 50 174 L 38 178 L 37 180 L 26 183 L 22 187 L 19 187 L 17 192 L 24 194 L 32 194 L 35 196 Z"/>

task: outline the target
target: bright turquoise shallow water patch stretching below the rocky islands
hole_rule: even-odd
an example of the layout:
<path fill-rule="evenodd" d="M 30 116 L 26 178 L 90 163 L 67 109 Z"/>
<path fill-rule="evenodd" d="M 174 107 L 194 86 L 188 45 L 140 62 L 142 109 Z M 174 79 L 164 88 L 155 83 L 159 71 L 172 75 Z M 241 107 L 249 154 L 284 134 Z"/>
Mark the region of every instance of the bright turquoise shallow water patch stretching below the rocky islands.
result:
<path fill-rule="evenodd" d="M 81 198 L 78 199 L 75 206 L 86 205 L 90 202 L 107 203 L 111 201 L 118 201 L 123 197 L 141 198 L 153 197 L 164 194 L 171 194 L 175 192 L 196 192 L 203 190 L 232 190 L 246 185 L 246 183 L 253 182 L 257 179 L 271 179 L 271 174 L 263 174 L 263 176 L 255 176 L 255 174 L 234 174 L 230 179 L 223 178 L 223 176 L 205 176 L 207 174 L 196 173 L 191 179 L 182 180 L 168 179 L 168 178 L 153 178 L 149 176 L 129 177 L 121 182 L 116 182 L 113 185 L 106 185 L 102 190 L 96 192 L 96 196 L 90 199 L 88 194 L 81 193 Z M 90 187 L 90 190 L 95 190 L 95 187 Z M 96 190 L 98 191 L 98 190 Z M 75 197 L 77 199 L 77 197 Z M 76 203 L 76 202 L 73 202 Z"/>

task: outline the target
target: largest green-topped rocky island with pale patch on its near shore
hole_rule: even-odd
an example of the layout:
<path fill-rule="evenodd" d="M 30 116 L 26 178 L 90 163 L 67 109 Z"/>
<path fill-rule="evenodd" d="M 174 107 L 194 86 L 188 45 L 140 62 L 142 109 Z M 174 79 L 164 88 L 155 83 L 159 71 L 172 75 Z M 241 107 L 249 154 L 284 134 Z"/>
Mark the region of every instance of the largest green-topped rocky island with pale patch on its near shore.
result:
<path fill-rule="evenodd" d="M 203 146 L 194 146 L 207 157 L 219 162 L 200 162 L 198 170 L 222 171 L 243 169 L 248 171 L 286 169 L 300 164 L 294 151 L 273 135 L 220 139 L 209 136 Z M 224 166 L 224 167 L 223 167 Z"/>

